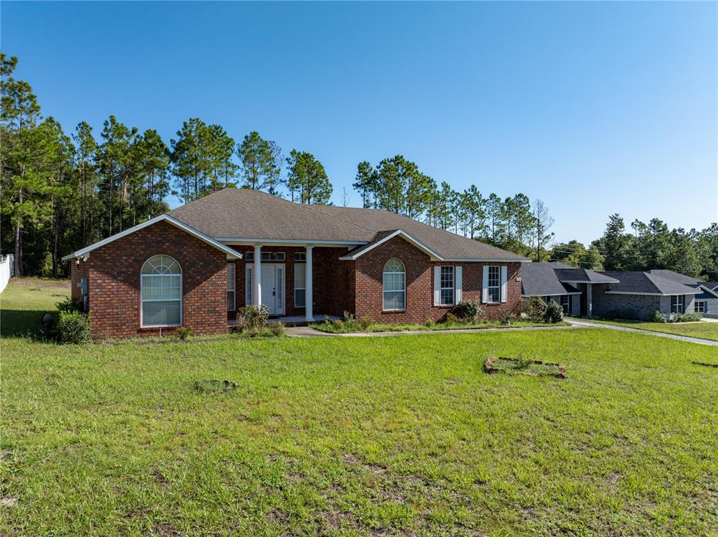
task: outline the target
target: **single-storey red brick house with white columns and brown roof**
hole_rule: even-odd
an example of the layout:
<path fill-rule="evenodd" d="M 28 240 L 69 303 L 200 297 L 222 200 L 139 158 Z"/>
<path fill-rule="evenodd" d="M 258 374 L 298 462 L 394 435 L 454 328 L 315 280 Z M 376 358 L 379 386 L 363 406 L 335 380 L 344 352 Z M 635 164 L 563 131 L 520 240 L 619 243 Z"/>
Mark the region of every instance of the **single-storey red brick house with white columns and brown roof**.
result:
<path fill-rule="evenodd" d="M 184 325 L 223 333 L 236 311 L 440 320 L 460 300 L 518 314 L 524 257 L 391 212 L 295 204 L 223 189 L 78 250 L 73 298 L 93 338 Z"/>

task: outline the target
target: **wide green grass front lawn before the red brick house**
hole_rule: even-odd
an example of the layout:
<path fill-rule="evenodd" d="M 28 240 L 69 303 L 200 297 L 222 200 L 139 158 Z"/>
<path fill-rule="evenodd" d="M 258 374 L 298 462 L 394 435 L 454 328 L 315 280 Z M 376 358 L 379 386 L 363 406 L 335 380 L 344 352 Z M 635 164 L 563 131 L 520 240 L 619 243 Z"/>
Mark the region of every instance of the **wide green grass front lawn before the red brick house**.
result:
<path fill-rule="evenodd" d="M 718 369 L 691 363 L 714 348 L 600 329 L 0 345 L 2 535 L 718 528 Z M 568 379 L 485 374 L 497 354 Z"/>

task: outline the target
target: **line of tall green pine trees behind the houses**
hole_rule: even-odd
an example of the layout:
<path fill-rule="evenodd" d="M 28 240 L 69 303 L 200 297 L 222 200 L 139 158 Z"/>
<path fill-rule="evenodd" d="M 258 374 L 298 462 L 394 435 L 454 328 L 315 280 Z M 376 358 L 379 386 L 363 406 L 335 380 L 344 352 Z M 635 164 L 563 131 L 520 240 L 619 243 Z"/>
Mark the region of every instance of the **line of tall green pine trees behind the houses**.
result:
<path fill-rule="evenodd" d="M 1 54 L 0 245 L 15 253 L 17 275 L 67 274 L 59 260 L 169 209 L 227 187 L 261 189 L 305 204 L 330 204 L 333 186 L 307 151 L 284 154 L 248 133 L 235 141 L 221 125 L 182 123 L 169 144 L 157 130 L 139 132 L 110 115 L 99 138 L 82 121 L 70 136 L 43 118 L 32 87 L 16 80 L 17 58 Z M 588 247 L 553 244 L 554 219 L 540 199 L 501 198 L 475 185 L 456 191 L 404 156 L 358 163 L 353 188 L 365 208 L 385 209 L 530 257 L 594 270 L 672 268 L 718 280 L 718 224 L 702 232 L 668 230 L 653 219 L 633 233 L 612 215 Z M 346 189 L 341 204 L 349 204 Z"/>

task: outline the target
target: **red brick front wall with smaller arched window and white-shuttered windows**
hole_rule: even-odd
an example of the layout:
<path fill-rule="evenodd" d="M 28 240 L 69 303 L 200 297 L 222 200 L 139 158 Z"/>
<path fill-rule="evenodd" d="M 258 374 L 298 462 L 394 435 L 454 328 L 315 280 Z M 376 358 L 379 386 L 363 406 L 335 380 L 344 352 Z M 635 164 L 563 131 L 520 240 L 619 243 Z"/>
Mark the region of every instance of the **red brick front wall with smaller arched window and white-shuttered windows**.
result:
<path fill-rule="evenodd" d="M 382 280 L 384 264 L 396 257 L 406 267 L 406 310 L 383 311 Z M 441 320 L 451 306 L 434 306 L 434 266 L 454 265 L 462 269 L 463 300 L 481 300 L 483 266 L 478 262 L 432 262 L 429 256 L 400 237 L 388 240 L 356 260 L 355 285 L 357 318 L 370 317 L 379 323 L 423 323 Z M 521 305 L 521 263 L 491 263 L 508 267 L 507 302 L 484 304 L 488 318 L 498 319 L 506 313 L 518 315 Z"/>

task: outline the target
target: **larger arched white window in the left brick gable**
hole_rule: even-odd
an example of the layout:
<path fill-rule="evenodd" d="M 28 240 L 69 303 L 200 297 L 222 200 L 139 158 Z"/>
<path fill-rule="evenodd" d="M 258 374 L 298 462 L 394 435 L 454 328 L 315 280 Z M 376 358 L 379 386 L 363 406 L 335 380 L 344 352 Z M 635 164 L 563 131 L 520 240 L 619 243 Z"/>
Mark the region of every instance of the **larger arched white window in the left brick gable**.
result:
<path fill-rule="evenodd" d="M 155 255 L 140 271 L 142 326 L 182 324 L 182 269 L 167 255 Z"/>

